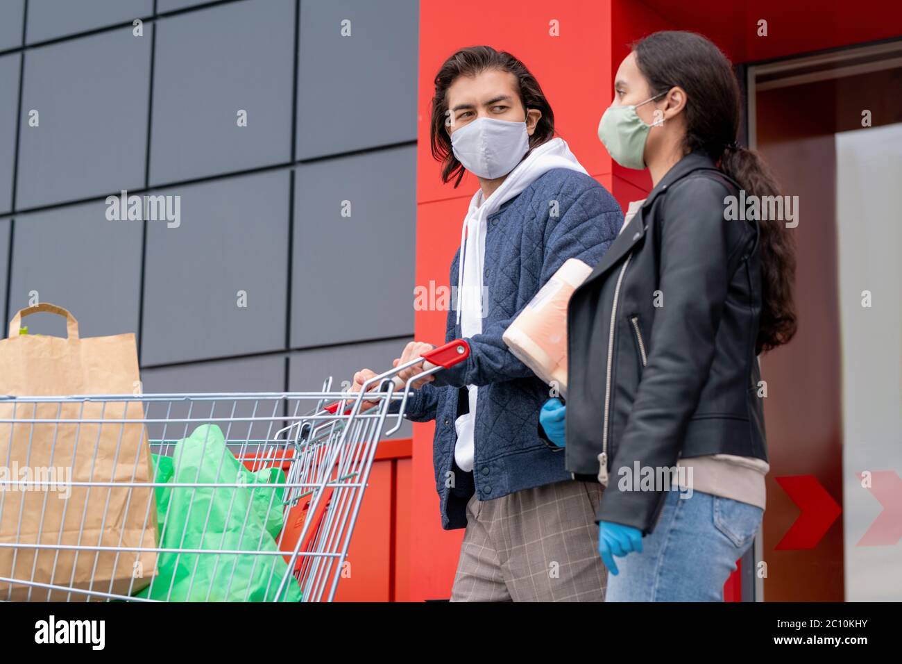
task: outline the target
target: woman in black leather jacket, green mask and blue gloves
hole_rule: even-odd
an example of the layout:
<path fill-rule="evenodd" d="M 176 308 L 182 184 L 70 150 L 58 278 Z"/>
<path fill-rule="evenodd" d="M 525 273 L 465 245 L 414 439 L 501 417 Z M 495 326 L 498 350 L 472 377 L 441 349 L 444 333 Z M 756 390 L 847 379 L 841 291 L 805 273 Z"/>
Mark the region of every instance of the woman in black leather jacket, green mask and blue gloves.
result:
<path fill-rule="evenodd" d="M 793 244 L 782 221 L 725 214 L 778 185 L 736 145 L 740 90 L 712 42 L 652 34 L 614 90 L 599 137 L 654 188 L 570 300 L 567 404 L 540 421 L 564 444 L 566 412 L 567 469 L 607 484 L 607 600 L 720 601 L 765 507 L 757 355 L 796 331 Z"/>

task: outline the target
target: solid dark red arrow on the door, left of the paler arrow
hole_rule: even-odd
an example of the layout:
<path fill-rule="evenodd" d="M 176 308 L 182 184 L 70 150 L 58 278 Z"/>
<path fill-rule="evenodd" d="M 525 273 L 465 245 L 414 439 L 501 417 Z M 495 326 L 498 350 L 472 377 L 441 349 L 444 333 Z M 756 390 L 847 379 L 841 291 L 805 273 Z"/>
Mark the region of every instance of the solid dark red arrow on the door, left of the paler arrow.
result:
<path fill-rule="evenodd" d="M 777 543 L 778 551 L 814 548 L 824 538 L 842 508 L 814 475 L 775 478 L 799 510 L 798 519 Z"/>

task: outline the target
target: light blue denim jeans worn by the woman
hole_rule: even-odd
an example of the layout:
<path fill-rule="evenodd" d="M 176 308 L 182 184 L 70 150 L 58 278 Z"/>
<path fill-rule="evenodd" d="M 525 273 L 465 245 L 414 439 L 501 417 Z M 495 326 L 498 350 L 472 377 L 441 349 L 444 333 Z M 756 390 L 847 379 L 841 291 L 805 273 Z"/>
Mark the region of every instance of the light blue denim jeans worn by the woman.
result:
<path fill-rule="evenodd" d="M 723 584 L 751 546 L 764 510 L 694 491 L 669 491 L 642 552 L 615 558 L 606 602 L 723 602 Z"/>

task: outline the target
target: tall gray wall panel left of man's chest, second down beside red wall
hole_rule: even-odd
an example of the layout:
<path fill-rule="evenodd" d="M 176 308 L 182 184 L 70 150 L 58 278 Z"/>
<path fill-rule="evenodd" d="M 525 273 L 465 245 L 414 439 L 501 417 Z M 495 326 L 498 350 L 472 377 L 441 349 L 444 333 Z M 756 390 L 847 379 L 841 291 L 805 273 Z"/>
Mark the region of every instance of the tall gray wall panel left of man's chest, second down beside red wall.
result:
<path fill-rule="evenodd" d="M 414 147 L 299 167 L 292 348 L 413 331 L 415 170 Z"/>

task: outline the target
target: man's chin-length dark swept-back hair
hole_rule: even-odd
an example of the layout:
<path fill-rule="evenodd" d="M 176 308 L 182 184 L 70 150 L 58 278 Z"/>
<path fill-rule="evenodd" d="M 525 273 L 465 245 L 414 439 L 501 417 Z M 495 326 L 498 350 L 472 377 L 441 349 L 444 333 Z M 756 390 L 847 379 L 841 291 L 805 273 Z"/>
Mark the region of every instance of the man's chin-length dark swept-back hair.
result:
<path fill-rule="evenodd" d="M 538 108 L 542 117 L 538 119 L 536 130 L 529 136 L 529 149 L 542 145 L 555 135 L 555 114 L 526 65 L 507 51 L 495 51 L 491 46 L 470 46 L 452 54 L 436 74 L 436 92 L 432 98 L 432 118 L 429 126 L 429 140 L 432 156 L 442 163 L 442 182 L 455 180 L 460 184 L 464 177 L 464 166 L 457 161 L 451 150 L 451 136 L 448 136 L 445 122 L 447 114 L 447 90 L 460 76 L 476 76 L 487 70 L 501 70 L 517 78 L 520 101 L 523 108 Z"/>

